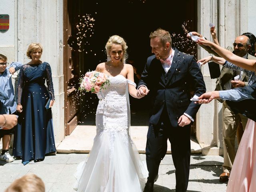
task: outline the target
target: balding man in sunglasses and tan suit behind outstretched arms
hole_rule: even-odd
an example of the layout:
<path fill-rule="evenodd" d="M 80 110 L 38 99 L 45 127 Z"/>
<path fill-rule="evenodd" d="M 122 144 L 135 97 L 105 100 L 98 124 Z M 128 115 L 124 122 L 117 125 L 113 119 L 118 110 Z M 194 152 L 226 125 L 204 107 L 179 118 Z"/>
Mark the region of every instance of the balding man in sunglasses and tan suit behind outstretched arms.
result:
<path fill-rule="evenodd" d="M 193 35 L 202 37 L 201 34 L 197 32 L 192 32 Z M 211 33 L 213 39 L 216 38 L 216 34 Z M 215 35 L 215 36 L 214 36 Z M 218 40 L 217 40 L 218 41 Z M 247 58 L 247 59 L 256 59 L 256 57 L 250 55 L 256 42 L 256 38 L 251 33 L 244 33 L 241 36 L 238 36 L 233 43 L 233 48 L 228 46 L 226 49 L 233 51 L 237 56 Z M 219 55 L 212 50 L 209 46 L 200 45 L 210 54 L 219 57 Z M 250 54 L 248 54 L 250 53 Z M 238 80 L 234 80 L 234 77 L 239 77 Z M 222 67 L 220 77 L 216 81 L 215 90 L 230 90 L 231 88 L 244 87 L 248 85 L 249 76 L 245 72 L 240 70 L 231 70 L 226 67 Z M 228 181 L 230 176 L 230 171 L 232 169 L 234 158 L 236 156 L 235 152 L 235 139 L 237 134 L 238 144 L 242 138 L 242 133 L 246 127 L 247 118 L 242 114 L 237 114 L 231 110 L 227 102 L 224 100 L 219 100 L 222 102 L 222 138 L 223 138 L 223 155 L 224 163 L 222 165 L 223 172 L 220 174 L 220 182 Z"/>

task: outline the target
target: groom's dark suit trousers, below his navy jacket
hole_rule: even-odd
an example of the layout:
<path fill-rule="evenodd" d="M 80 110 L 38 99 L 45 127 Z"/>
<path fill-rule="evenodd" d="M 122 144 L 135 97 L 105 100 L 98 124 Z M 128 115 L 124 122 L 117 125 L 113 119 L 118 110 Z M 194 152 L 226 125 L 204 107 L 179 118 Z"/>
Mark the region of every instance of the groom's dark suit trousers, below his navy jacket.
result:
<path fill-rule="evenodd" d="M 161 160 L 167 151 L 167 140 L 171 143 L 175 166 L 176 192 L 186 192 L 190 169 L 190 125 L 172 127 L 166 107 L 157 125 L 149 125 L 146 144 L 148 182 L 154 182 Z M 171 172 L 174 172 L 171 171 Z"/>

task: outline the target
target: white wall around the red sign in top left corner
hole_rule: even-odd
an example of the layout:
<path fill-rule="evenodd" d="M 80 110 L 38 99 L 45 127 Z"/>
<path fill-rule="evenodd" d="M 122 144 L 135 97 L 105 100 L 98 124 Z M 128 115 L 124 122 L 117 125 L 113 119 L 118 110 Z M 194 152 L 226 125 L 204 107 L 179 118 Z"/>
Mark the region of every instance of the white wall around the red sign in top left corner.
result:
<path fill-rule="evenodd" d="M 16 30 L 14 4 L 14 0 L 1 0 L 0 2 L 0 14 L 8 14 L 10 22 L 9 30 L 4 33 L 0 32 L 0 53 L 7 56 L 8 62 L 16 60 L 14 51 L 14 34 Z"/>

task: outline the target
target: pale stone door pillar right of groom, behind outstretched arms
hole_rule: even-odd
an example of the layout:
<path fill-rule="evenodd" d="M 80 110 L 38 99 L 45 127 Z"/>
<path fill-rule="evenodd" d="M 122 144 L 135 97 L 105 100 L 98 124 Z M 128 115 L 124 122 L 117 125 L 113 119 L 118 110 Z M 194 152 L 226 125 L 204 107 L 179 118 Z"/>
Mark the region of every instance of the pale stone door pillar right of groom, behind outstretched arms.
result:
<path fill-rule="evenodd" d="M 209 23 L 217 23 L 215 0 L 198 0 L 198 32 L 211 40 Z M 198 46 L 198 58 L 208 56 L 202 47 Z M 215 81 L 211 80 L 208 65 L 202 66 L 202 74 L 206 84 L 206 90 L 215 89 Z M 202 105 L 197 113 L 196 138 L 201 146 L 216 146 L 216 114 L 214 102 Z"/>

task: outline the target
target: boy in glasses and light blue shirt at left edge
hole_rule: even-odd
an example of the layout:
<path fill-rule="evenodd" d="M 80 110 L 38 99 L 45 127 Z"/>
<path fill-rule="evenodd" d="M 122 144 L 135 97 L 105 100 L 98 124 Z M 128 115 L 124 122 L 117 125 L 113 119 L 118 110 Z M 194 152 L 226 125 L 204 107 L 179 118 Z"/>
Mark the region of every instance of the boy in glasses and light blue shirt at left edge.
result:
<path fill-rule="evenodd" d="M 8 97 L 6 99 L 0 98 L 0 102 L 5 106 L 5 111 L 0 114 L 16 114 L 16 98 L 14 96 L 14 89 L 12 86 L 12 74 L 20 69 L 22 66 L 19 62 L 14 62 L 8 66 L 7 57 L 0 54 L 0 90 Z M 9 145 L 14 134 L 14 128 L 6 130 L 4 127 L 0 129 L 0 138 L 2 138 L 2 153 L 0 160 L 6 162 L 14 161 L 13 157 L 9 154 Z"/>

